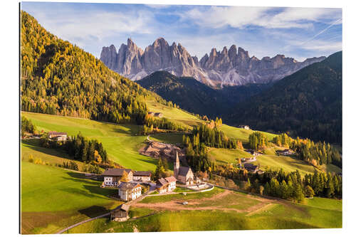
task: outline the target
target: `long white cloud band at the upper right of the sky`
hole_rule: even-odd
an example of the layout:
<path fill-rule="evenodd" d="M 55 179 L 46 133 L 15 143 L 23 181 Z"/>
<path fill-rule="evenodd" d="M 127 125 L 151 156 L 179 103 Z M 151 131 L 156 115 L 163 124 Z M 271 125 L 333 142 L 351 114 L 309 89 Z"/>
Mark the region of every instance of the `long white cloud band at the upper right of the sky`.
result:
<path fill-rule="evenodd" d="M 262 26 L 265 28 L 310 28 L 310 21 L 337 19 L 340 9 L 286 8 L 279 10 L 268 7 L 211 6 L 209 9 L 194 8 L 181 13 L 182 20 L 188 18 L 200 26 L 220 28 L 231 26 Z"/>

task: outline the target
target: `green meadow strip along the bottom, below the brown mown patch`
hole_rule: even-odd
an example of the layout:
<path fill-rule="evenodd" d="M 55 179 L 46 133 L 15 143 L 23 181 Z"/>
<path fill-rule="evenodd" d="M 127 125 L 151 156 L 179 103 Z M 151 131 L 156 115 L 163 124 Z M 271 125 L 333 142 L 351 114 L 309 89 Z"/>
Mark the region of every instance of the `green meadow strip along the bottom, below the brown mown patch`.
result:
<path fill-rule="evenodd" d="M 162 200 L 157 199 L 157 201 Z M 245 203 L 241 204 L 244 208 L 258 204 L 256 200 L 249 199 L 248 196 L 244 201 Z M 339 203 L 340 201 L 327 199 L 326 202 Z M 307 204 L 281 201 L 281 203 L 269 204 L 250 213 L 221 210 L 155 212 L 142 208 L 142 215 L 139 215 L 144 216 L 142 218 L 131 219 L 122 223 L 109 221 L 108 218 L 99 218 L 76 226 L 70 229 L 68 233 L 342 228 L 340 204 L 332 204 L 329 208 L 329 206 L 323 206 L 324 203 L 324 199 L 307 201 Z M 135 213 L 140 213 L 140 209 L 135 208 Z M 152 214 L 152 216 L 143 214 Z"/>

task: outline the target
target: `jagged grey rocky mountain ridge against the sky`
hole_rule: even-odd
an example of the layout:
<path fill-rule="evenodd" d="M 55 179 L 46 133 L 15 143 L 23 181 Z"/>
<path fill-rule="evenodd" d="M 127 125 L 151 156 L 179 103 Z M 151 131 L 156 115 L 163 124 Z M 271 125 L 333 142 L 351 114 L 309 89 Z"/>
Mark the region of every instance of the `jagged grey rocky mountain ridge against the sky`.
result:
<path fill-rule="evenodd" d="M 157 70 L 165 70 L 177 76 L 192 76 L 211 87 L 271 83 L 324 59 L 308 58 L 298 62 L 277 55 L 260 60 L 255 56 L 250 57 L 243 48 L 232 45 L 229 50 L 226 47 L 222 51 L 212 48 L 209 55 L 205 54 L 198 60 L 180 43 L 177 45 L 174 42 L 169 46 L 164 38 L 157 38 L 145 51 L 128 38 L 127 45 L 122 43 L 118 51 L 111 45 L 103 47 L 100 53 L 100 60 L 108 68 L 131 80 L 140 80 Z"/>

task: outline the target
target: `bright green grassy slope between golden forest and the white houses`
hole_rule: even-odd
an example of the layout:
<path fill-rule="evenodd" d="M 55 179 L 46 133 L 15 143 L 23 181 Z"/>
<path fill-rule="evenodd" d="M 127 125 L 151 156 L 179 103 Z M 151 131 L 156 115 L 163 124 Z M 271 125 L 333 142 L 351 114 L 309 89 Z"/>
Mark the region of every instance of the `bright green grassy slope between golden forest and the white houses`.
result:
<path fill-rule="evenodd" d="M 138 153 L 146 136 L 135 136 L 137 125 L 115 125 L 108 122 L 98 122 L 75 117 L 61 117 L 31 112 L 22 112 L 38 130 L 67 132 L 84 137 L 95 138 L 103 143 L 109 159 L 122 166 L 135 170 L 155 170 L 156 159 L 145 157 Z"/>

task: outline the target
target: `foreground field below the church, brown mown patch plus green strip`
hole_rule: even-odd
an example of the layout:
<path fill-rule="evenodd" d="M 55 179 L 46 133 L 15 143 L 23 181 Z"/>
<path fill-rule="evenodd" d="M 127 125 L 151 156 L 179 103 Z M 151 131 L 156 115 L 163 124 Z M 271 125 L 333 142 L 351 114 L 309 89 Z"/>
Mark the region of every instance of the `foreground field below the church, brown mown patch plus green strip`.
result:
<path fill-rule="evenodd" d="M 182 195 L 181 199 L 174 198 L 173 202 L 162 199 L 162 196 L 150 197 L 150 204 L 159 206 L 158 210 L 135 206 L 130 215 L 139 217 L 137 219 L 118 223 L 100 218 L 72 228 L 68 233 L 342 227 L 340 200 L 315 198 L 305 201 L 305 204 L 293 204 L 235 191 L 222 196 L 221 191 L 216 190 L 218 192 L 212 195 L 196 195 L 188 200 L 186 206 L 174 204 L 186 200 Z M 167 208 L 164 201 L 167 201 Z M 139 204 L 145 205 L 145 199 Z M 194 210 L 189 209 L 192 206 Z"/>

